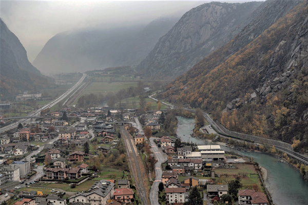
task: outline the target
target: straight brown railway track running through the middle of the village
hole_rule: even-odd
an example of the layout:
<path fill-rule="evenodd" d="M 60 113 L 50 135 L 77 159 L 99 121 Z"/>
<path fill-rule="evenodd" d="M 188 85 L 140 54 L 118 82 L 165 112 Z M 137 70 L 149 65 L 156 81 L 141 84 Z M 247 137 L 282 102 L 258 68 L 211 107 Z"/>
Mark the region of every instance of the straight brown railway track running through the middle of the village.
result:
<path fill-rule="evenodd" d="M 123 126 L 121 126 L 121 132 L 122 132 L 122 136 L 123 136 L 124 143 L 125 143 L 126 150 L 127 150 L 127 154 L 128 154 L 128 161 L 132 165 L 132 167 L 131 167 L 132 171 L 136 170 L 136 172 L 137 172 L 137 177 L 134 178 L 135 183 L 136 183 L 136 188 L 139 192 L 139 196 L 141 198 L 142 204 L 147 205 L 148 204 L 148 197 L 146 196 L 146 190 L 144 188 L 144 184 L 143 184 L 143 180 L 142 180 L 142 173 L 140 171 L 140 167 L 139 167 L 136 152 L 134 150 L 134 146 L 133 146 L 131 139 L 130 139 L 130 134 L 126 131 L 126 129 Z M 133 162 L 130 158 L 130 155 L 133 156 L 134 164 L 133 164 Z M 133 167 L 133 165 L 134 165 L 134 167 Z"/>

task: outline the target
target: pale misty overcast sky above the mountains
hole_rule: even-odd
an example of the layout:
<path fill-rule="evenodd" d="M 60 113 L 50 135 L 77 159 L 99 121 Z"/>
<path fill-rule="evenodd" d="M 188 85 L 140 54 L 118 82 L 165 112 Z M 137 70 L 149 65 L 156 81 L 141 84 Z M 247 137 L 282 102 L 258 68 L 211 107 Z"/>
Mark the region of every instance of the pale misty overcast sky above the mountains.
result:
<path fill-rule="evenodd" d="M 159 17 L 180 17 L 204 3 L 206 1 L 0 1 L 0 17 L 24 45 L 32 62 L 45 43 L 59 32 L 148 24 Z"/>

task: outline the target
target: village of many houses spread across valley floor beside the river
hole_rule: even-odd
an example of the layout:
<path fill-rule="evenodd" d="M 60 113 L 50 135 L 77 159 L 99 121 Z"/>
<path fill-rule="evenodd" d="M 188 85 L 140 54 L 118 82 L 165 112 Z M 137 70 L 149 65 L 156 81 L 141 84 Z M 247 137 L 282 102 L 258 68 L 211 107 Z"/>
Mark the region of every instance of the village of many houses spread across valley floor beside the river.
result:
<path fill-rule="evenodd" d="M 217 144 L 187 144 L 165 136 L 164 120 L 171 112 L 43 110 L 43 118 L 1 136 L 0 187 L 6 194 L 0 200 L 10 198 L 7 202 L 16 205 L 142 203 L 127 160 L 124 127 L 142 158 L 139 165 L 150 175 L 149 185 L 159 183 L 160 204 L 184 203 L 193 189 L 203 204 L 269 204 L 254 162 L 225 153 Z M 165 159 L 159 166 L 157 155 Z"/>

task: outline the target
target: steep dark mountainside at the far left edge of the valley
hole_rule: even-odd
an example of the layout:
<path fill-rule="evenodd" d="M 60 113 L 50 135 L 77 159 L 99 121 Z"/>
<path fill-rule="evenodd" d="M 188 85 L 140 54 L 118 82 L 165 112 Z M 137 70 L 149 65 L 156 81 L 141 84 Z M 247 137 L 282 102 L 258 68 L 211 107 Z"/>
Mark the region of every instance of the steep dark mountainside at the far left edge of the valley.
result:
<path fill-rule="evenodd" d="M 48 86 L 44 78 L 28 61 L 27 53 L 16 35 L 0 19 L 0 96 L 1 100 L 12 100 L 24 90 Z"/>

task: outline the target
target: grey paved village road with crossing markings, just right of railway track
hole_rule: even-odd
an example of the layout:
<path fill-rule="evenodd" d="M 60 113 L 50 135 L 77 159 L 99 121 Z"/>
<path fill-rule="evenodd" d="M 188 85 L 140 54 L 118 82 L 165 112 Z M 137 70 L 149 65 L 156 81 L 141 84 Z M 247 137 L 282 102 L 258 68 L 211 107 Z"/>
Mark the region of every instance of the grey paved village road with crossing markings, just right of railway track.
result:
<path fill-rule="evenodd" d="M 158 150 L 157 145 L 153 142 L 153 137 L 150 138 L 150 145 L 152 147 L 153 153 L 155 153 L 156 160 L 158 160 L 155 164 L 155 181 L 152 184 L 150 190 L 150 202 L 151 205 L 159 205 L 158 203 L 158 185 L 162 180 L 162 169 L 161 164 L 167 160 L 167 156 L 163 156 L 162 153 Z"/>

